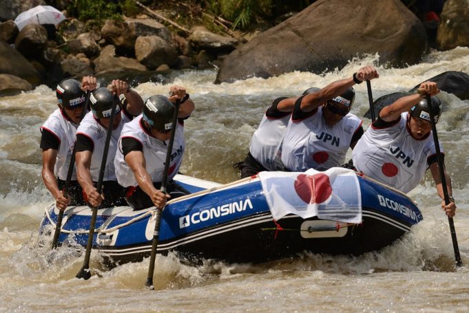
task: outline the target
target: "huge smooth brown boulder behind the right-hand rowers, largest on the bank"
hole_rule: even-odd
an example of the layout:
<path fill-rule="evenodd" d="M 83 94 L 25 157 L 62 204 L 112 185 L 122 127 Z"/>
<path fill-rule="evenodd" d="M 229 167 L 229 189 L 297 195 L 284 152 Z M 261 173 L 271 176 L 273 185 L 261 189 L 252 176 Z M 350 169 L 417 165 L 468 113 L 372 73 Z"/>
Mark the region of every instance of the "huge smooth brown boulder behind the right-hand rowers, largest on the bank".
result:
<path fill-rule="evenodd" d="M 216 83 L 322 73 L 364 54 L 378 53 L 394 67 L 412 65 L 426 47 L 424 26 L 400 0 L 319 0 L 231 52 Z"/>

